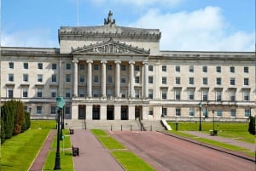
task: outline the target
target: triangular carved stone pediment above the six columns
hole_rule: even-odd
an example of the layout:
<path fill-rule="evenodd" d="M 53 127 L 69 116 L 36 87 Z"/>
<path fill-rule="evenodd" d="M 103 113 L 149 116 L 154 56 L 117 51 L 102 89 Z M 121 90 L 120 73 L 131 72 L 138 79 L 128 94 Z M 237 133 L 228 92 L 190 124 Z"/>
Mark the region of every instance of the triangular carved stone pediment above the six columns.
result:
<path fill-rule="evenodd" d="M 125 43 L 109 41 L 72 48 L 73 54 L 150 54 L 150 49 L 137 48 Z"/>

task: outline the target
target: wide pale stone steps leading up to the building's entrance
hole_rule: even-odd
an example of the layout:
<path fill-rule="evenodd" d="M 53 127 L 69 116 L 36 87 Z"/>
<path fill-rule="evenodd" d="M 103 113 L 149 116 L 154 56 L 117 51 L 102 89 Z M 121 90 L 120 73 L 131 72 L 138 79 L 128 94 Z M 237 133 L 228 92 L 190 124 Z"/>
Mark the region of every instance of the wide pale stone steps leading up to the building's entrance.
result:
<path fill-rule="evenodd" d="M 112 131 L 164 131 L 160 121 L 139 120 L 65 120 L 65 128 L 104 129 Z"/>

